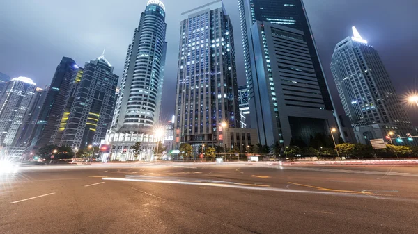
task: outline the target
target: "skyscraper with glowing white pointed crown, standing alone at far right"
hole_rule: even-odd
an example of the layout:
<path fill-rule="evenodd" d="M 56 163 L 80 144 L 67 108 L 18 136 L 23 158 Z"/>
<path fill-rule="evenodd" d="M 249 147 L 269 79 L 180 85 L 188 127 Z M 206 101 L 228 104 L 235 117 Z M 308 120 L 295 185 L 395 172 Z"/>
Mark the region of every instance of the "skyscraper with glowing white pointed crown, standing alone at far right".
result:
<path fill-rule="evenodd" d="M 414 134 L 378 51 L 353 34 L 336 44 L 330 67 L 357 141 Z"/>

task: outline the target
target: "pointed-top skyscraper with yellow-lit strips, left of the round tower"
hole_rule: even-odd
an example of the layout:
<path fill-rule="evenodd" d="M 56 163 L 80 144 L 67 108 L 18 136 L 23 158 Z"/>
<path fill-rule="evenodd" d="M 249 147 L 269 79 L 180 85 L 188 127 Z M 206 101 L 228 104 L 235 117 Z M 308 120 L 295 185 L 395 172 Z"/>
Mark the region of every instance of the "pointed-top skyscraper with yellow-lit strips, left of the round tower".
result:
<path fill-rule="evenodd" d="M 111 126 L 116 103 L 119 77 L 113 70 L 103 55 L 79 69 L 59 124 L 56 144 L 72 149 L 100 145 Z"/>

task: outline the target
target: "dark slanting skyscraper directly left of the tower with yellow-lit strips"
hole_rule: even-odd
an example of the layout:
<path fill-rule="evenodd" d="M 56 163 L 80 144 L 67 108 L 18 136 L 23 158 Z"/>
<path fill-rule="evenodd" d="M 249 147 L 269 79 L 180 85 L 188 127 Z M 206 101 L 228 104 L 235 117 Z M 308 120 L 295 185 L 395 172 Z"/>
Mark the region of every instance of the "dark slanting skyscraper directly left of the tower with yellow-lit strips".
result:
<path fill-rule="evenodd" d="M 79 66 L 71 58 L 63 57 L 47 88 L 47 97 L 40 110 L 38 124 L 29 137 L 31 147 L 43 147 L 53 144 L 56 131 L 59 128 L 61 117 L 67 103 L 68 92 Z"/>

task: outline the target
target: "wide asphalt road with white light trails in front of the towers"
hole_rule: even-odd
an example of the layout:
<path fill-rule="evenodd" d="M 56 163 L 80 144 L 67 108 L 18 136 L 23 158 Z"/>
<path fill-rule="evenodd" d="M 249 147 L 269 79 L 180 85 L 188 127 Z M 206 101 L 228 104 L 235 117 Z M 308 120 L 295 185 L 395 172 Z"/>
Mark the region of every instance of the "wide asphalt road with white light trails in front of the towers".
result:
<path fill-rule="evenodd" d="M 45 166 L 0 178 L 0 233 L 418 233 L 418 166 Z"/>

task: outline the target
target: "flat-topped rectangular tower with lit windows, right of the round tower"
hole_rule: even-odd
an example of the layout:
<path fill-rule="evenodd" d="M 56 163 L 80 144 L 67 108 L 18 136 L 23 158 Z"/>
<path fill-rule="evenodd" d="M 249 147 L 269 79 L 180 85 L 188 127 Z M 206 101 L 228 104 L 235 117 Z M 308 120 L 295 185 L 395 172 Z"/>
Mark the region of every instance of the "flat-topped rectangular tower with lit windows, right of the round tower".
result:
<path fill-rule="evenodd" d="M 222 123 L 240 126 L 233 28 L 222 1 L 182 14 L 175 148 L 222 143 Z"/>

